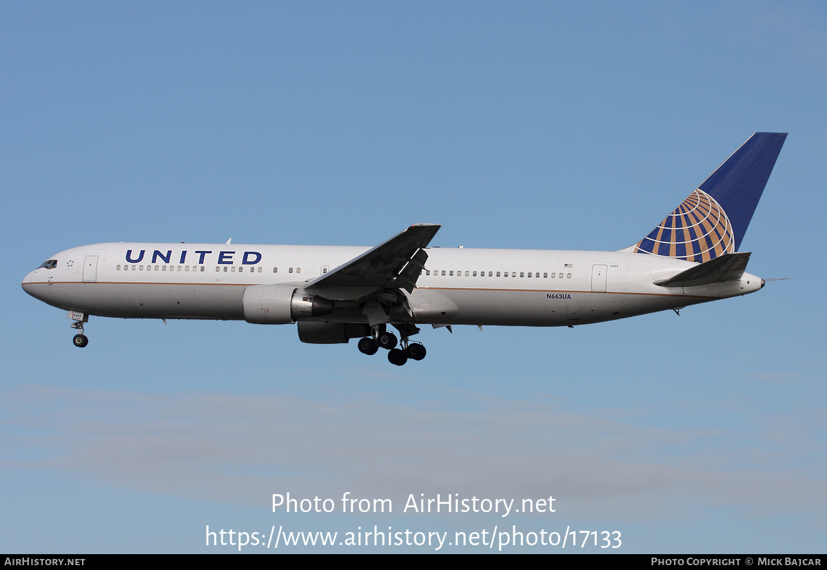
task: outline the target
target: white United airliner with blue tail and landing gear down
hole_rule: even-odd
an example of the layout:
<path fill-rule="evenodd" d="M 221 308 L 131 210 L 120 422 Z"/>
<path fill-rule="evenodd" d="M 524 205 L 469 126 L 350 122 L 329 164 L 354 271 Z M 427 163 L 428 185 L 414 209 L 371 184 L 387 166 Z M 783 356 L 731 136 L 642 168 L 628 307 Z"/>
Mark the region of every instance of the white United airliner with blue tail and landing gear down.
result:
<path fill-rule="evenodd" d="M 739 251 L 786 133 L 757 132 L 656 228 L 619 251 L 428 247 L 418 223 L 367 247 L 98 243 L 50 256 L 23 290 L 89 316 L 297 323 L 299 340 L 359 338 L 397 366 L 419 361 L 421 325 L 573 327 L 747 295 L 765 281 Z M 399 332 L 399 339 L 390 330 Z M 399 342 L 401 340 L 401 342 Z M 398 347 L 399 346 L 399 347 Z"/>

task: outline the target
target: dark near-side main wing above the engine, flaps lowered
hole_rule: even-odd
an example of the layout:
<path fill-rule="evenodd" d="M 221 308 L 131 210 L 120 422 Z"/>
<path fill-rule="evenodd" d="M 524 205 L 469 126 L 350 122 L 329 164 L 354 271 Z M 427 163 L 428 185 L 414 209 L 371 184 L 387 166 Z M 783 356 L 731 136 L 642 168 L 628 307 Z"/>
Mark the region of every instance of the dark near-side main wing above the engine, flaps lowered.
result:
<path fill-rule="evenodd" d="M 441 226 L 417 223 L 304 286 L 326 299 L 360 299 L 374 291 L 390 288 L 409 293 L 416 287 L 428 259 L 428 247 Z"/>

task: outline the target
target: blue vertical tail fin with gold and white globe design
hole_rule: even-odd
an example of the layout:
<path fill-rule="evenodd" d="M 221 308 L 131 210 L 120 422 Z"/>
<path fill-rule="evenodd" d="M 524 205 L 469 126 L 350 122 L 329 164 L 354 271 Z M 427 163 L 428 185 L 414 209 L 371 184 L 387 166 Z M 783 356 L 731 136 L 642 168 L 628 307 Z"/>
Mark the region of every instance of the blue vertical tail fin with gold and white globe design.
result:
<path fill-rule="evenodd" d="M 629 250 L 701 263 L 738 251 L 786 132 L 756 132 Z"/>

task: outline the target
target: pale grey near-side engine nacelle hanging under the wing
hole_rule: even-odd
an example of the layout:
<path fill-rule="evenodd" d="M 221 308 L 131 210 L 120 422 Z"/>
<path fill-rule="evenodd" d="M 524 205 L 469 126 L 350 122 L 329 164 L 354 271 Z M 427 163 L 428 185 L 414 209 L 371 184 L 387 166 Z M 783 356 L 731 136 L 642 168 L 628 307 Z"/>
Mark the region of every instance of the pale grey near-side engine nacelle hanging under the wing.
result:
<path fill-rule="evenodd" d="M 244 319 L 256 324 L 289 324 L 333 312 L 333 301 L 294 285 L 250 285 L 242 302 Z"/>

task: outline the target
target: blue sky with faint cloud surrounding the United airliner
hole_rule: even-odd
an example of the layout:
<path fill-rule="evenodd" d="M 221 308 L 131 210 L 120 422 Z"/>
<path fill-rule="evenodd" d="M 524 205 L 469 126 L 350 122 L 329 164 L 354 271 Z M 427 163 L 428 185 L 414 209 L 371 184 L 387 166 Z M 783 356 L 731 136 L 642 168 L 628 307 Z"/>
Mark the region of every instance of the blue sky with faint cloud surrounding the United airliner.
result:
<path fill-rule="evenodd" d="M 2 550 L 505 521 L 823 551 L 821 3 L 17 2 L 0 74 Z M 619 249 L 757 131 L 790 135 L 741 251 L 794 279 L 679 317 L 426 329 L 396 368 L 246 323 L 93 318 L 80 351 L 20 287 L 95 242 Z M 287 491 L 558 502 L 270 512 Z"/>

